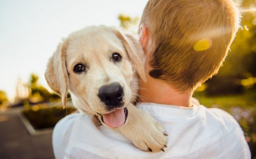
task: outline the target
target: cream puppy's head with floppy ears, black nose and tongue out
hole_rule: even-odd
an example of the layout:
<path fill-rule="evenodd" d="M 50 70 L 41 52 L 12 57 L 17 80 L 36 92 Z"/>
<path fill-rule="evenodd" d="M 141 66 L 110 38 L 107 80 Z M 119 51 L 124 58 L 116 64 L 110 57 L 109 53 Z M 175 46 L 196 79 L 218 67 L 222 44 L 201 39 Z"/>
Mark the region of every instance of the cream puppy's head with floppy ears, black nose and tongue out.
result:
<path fill-rule="evenodd" d="M 96 112 L 102 122 L 118 127 L 127 118 L 124 107 L 131 101 L 134 69 L 146 81 L 142 58 L 143 50 L 134 37 L 106 26 L 89 26 L 59 44 L 45 77 L 64 106 L 70 90 L 80 112 Z"/>

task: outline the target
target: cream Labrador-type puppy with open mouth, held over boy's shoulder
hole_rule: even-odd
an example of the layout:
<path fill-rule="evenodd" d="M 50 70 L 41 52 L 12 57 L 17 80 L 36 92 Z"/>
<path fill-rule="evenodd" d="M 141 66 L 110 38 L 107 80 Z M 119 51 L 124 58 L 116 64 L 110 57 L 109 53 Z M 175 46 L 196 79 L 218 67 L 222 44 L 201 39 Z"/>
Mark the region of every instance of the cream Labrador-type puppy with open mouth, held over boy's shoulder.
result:
<path fill-rule="evenodd" d="M 118 129 L 144 151 L 164 151 L 162 125 L 132 104 L 138 75 L 146 81 L 143 50 L 131 35 L 107 26 L 88 26 L 59 44 L 45 73 L 49 86 L 66 104 L 68 90 L 80 113 L 92 114 Z M 136 71 L 135 71 L 136 70 Z"/>

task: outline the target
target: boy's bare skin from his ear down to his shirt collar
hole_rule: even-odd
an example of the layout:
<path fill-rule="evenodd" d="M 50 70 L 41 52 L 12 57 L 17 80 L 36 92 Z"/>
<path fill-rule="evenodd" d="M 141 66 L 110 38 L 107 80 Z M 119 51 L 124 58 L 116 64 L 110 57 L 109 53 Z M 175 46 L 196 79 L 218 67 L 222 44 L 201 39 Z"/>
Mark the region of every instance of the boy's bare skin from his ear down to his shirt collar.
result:
<path fill-rule="evenodd" d="M 139 80 L 139 86 L 142 87 L 139 89 L 139 102 L 192 107 L 192 90 L 179 92 L 163 80 L 154 79 L 149 76 L 149 72 L 152 70 L 150 67 L 150 57 L 152 57 L 150 54 L 152 52 L 152 41 L 149 36 L 149 31 L 144 24 L 140 26 L 139 36 L 139 41 L 145 53 L 144 69 L 148 80 L 147 83 Z"/>

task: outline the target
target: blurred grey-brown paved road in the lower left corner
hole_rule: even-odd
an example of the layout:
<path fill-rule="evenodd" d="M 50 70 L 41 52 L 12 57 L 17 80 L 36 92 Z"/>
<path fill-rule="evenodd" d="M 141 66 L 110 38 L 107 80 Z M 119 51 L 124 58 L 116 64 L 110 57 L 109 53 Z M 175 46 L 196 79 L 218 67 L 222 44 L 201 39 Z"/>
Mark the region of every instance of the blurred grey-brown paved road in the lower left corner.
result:
<path fill-rule="evenodd" d="M 16 112 L 0 115 L 1 159 L 53 159 L 52 133 L 30 135 Z"/>

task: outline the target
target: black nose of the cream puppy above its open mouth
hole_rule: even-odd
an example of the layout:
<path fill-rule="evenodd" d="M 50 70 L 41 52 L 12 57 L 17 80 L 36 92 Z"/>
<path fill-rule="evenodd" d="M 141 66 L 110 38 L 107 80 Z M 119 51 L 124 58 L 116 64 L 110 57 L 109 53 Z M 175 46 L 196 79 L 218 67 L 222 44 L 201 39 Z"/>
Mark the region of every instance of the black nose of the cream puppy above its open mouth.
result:
<path fill-rule="evenodd" d="M 110 85 L 102 86 L 99 89 L 98 97 L 107 106 L 119 107 L 123 98 L 123 88 L 119 83 L 112 83 Z"/>

